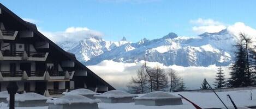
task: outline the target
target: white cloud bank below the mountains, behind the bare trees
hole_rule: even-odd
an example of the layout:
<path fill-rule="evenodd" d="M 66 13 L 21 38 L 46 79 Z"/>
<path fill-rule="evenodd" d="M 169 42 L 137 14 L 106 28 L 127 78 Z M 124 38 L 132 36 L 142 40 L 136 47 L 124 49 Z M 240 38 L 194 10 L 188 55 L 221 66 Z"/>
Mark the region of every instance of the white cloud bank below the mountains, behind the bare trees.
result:
<path fill-rule="evenodd" d="M 99 75 L 101 78 L 109 82 L 112 86 L 117 89 L 124 89 L 126 85 L 130 82 L 132 76 L 136 74 L 136 70 L 143 65 L 144 61 L 139 61 L 137 63 L 122 63 L 114 62 L 109 60 L 104 60 L 98 65 L 87 66 L 94 73 Z M 168 69 L 172 68 L 177 71 L 177 73 L 182 76 L 186 87 L 189 89 L 198 89 L 204 78 L 206 78 L 210 83 L 213 83 L 215 75 L 217 73 L 218 67 L 215 65 L 209 67 L 182 67 L 182 66 L 164 66 L 158 62 L 148 62 L 148 66 L 154 67 L 156 65 Z M 224 73 L 229 77 L 229 67 L 224 67 Z"/>

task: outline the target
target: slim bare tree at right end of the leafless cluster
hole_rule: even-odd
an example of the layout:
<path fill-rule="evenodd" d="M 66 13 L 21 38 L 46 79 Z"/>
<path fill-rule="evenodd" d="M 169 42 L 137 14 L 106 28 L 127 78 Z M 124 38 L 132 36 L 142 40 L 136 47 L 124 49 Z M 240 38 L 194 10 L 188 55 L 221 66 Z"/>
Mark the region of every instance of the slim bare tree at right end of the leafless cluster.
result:
<path fill-rule="evenodd" d="M 180 85 L 181 78 L 177 75 L 174 69 L 167 70 L 167 73 L 169 75 L 170 92 L 175 91 Z"/>

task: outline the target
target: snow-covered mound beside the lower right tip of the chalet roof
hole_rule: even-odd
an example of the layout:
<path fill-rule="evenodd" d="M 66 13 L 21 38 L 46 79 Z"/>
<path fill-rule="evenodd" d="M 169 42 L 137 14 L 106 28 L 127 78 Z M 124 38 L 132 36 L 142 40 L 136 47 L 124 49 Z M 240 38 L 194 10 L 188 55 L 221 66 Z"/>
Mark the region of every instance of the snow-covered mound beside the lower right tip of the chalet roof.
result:
<path fill-rule="evenodd" d="M 103 98 L 124 98 L 124 97 L 138 97 L 136 94 L 130 94 L 124 91 L 112 90 L 100 95 L 94 95 L 94 97 L 103 97 Z"/>

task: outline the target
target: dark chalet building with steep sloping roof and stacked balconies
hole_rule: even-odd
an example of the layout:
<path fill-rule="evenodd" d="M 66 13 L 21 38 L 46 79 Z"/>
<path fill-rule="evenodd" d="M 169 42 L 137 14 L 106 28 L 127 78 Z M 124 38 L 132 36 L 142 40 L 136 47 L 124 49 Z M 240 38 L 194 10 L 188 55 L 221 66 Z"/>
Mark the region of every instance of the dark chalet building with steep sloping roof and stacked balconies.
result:
<path fill-rule="evenodd" d="M 57 94 L 66 89 L 115 89 L 0 3 L 0 91 L 16 81 L 19 92 Z"/>

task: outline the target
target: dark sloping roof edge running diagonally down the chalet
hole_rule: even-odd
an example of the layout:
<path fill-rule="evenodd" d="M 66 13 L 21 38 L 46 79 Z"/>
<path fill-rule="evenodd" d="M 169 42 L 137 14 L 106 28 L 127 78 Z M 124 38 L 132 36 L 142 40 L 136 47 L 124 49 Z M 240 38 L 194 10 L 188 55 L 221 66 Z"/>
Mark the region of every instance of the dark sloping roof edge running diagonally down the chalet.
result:
<path fill-rule="evenodd" d="M 63 50 L 61 47 L 57 46 L 57 44 L 55 44 L 54 42 L 52 42 L 51 40 L 49 40 L 46 36 L 44 36 L 43 34 L 41 34 L 38 30 L 35 24 L 30 23 L 30 22 L 26 22 L 24 20 L 22 20 L 22 18 L 20 18 L 19 16 L 17 16 L 16 14 L 14 14 L 12 11 L 10 11 L 8 8 L 6 8 L 2 3 L 0 3 L 0 8 L 2 9 L 2 13 L 3 11 L 7 12 L 10 16 L 14 17 L 15 20 L 17 20 L 18 22 L 20 22 L 21 24 L 23 24 L 26 28 L 28 28 L 29 30 L 34 31 L 34 34 L 38 35 L 39 37 L 41 37 L 42 39 L 44 39 L 45 41 L 49 42 L 49 44 L 52 47 L 55 47 L 59 52 L 61 52 L 63 55 L 66 55 L 67 57 L 69 57 L 70 60 L 74 61 L 76 63 L 76 65 L 84 68 L 85 70 L 87 70 L 87 73 L 90 73 L 94 78 L 98 79 L 100 82 L 102 82 L 104 85 L 109 87 L 109 90 L 114 90 L 115 88 L 112 87 L 111 85 L 108 84 L 108 82 L 104 81 L 102 78 L 100 78 L 98 75 L 96 75 L 95 73 L 92 72 L 92 70 L 90 70 L 89 68 L 87 68 L 85 65 L 83 65 L 81 62 L 79 62 L 78 60 L 76 60 L 74 58 L 74 56 L 68 52 L 66 52 L 65 50 Z"/>

